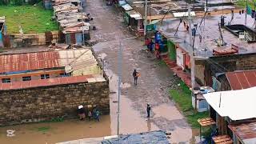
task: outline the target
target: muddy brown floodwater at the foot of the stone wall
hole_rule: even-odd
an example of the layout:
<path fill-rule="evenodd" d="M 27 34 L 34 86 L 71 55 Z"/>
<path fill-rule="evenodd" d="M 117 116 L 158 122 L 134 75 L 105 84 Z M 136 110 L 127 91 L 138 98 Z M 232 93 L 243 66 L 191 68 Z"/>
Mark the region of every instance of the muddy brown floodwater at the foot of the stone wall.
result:
<path fill-rule="evenodd" d="M 15 130 L 15 135 L 7 137 L 6 130 Z M 111 135 L 110 115 L 102 116 L 100 122 L 72 119 L 64 122 L 44 122 L 0 127 L 1 144 L 52 144 L 107 135 Z"/>

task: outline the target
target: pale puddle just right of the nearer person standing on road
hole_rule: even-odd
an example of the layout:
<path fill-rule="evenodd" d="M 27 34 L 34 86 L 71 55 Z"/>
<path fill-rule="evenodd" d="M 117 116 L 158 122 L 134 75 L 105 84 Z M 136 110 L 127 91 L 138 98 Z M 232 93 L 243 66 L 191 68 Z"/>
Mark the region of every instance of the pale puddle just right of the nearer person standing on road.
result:
<path fill-rule="evenodd" d="M 155 106 L 152 110 L 155 114 L 154 117 L 161 116 L 168 120 L 183 119 L 182 114 L 177 110 L 175 106 L 171 106 L 166 103 L 159 106 Z"/>

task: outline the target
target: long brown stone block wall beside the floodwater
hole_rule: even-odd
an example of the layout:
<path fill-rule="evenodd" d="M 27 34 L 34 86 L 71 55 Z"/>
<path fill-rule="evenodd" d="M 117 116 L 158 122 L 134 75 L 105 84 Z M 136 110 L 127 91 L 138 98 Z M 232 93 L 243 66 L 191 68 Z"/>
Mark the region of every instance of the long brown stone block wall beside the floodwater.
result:
<path fill-rule="evenodd" d="M 81 104 L 109 114 L 109 93 L 108 81 L 0 90 L 0 126 L 74 118 Z"/>

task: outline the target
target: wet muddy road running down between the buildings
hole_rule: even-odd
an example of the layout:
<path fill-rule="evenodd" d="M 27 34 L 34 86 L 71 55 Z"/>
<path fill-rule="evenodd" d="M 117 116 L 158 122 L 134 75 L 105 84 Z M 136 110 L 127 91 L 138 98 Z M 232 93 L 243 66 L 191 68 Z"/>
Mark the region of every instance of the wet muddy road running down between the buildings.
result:
<path fill-rule="evenodd" d="M 106 6 L 102 0 L 87 0 L 86 11 L 97 27 L 90 33 L 92 41 L 97 42 L 93 48 L 98 58 L 104 59 L 104 69 L 110 78 L 111 134 L 117 134 L 118 70 L 121 69 L 121 134 L 171 130 L 171 143 L 190 143 L 192 130 L 168 94 L 173 73 L 145 50 L 140 39 L 130 34 L 118 8 Z M 118 66 L 120 42 L 122 66 Z M 134 69 L 141 74 L 138 86 L 134 86 Z M 146 118 L 147 103 L 152 107 L 150 119 Z"/>

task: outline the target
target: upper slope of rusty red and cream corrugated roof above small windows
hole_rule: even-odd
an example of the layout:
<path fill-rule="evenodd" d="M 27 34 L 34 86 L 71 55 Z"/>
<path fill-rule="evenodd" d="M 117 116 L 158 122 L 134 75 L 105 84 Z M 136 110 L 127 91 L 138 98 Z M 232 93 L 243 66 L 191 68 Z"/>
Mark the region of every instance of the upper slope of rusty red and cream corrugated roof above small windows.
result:
<path fill-rule="evenodd" d="M 63 67 L 85 54 L 88 50 L 60 50 L 0 55 L 0 73 Z"/>

